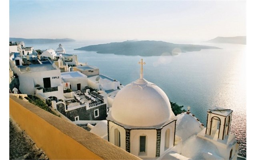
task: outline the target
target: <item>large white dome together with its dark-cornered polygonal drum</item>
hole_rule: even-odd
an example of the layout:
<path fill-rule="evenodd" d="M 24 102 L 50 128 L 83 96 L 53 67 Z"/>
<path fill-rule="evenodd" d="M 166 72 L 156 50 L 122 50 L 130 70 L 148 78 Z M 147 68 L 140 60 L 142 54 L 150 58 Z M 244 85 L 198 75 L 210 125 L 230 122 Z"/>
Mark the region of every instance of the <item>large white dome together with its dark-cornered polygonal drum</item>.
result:
<path fill-rule="evenodd" d="M 118 92 L 107 120 L 109 142 L 141 158 L 159 157 L 174 146 L 177 118 L 169 99 L 143 73 Z"/>

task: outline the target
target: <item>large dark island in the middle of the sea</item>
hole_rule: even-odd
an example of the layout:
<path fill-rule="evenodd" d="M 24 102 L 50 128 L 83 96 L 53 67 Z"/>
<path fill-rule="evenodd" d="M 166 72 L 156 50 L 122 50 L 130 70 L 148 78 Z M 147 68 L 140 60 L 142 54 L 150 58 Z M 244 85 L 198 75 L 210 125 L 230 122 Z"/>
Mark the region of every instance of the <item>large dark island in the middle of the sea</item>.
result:
<path fill-rule="evenodd" d="M 168 56 L 180 52 L 200 51 L 202 49 L 221 49 L 214 46 L 202 46 L 193 44 L 174 44 L 163 41 L 136 41 L 112 42 L 76 48 L 74 50 L 96 51 L 102 54 L 119 54 L 127 56 Z"/>

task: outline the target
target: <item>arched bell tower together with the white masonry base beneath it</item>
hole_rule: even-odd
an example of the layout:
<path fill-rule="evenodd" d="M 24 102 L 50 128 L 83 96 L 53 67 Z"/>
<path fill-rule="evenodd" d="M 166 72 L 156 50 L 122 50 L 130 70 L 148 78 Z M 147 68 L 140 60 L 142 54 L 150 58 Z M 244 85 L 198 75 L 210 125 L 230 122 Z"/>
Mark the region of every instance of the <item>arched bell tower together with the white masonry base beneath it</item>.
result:
<path fill-rule="evenodd" d="M 238 155 L 239 142 L 236 135 L 230 133 L 232 110 L 213 107 L 207 111 L 207 124 L 198 137 L 212 142 L 221 157 L 224 159 L 236 160 Z"/>

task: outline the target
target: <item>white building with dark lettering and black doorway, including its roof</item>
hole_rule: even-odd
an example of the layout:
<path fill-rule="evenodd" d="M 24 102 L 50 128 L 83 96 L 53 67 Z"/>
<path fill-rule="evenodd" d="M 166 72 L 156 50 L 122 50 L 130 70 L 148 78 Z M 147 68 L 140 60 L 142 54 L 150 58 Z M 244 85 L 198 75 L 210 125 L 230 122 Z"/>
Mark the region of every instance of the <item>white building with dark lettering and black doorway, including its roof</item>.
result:
<path fill-rule="evenodd" d="M 18 75 L 19 90 L 23 94 L 36 95 L 41 99 L 50 96 L 64 99 L 60 70 L 55 64 L 16 66 L 10 60 L 10 67 Z"/>

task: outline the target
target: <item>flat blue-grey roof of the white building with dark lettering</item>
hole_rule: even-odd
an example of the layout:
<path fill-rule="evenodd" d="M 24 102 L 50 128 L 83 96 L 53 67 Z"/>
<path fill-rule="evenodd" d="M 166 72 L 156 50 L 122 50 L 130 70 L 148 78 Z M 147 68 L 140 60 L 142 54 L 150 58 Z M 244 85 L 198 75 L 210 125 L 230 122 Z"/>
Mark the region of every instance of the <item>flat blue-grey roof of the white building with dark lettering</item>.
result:
<path fill-rule="evenodd" d="M 29 67 L 29 71 L 26 71 L 27 67 Z M 34 64 L 31 66 L 18 66 L 18 68 L 20 68 L 20 72 L 22 73 L 59 70 L 58 68 L 54 67 L 52 64 Z"/>

